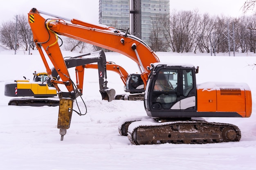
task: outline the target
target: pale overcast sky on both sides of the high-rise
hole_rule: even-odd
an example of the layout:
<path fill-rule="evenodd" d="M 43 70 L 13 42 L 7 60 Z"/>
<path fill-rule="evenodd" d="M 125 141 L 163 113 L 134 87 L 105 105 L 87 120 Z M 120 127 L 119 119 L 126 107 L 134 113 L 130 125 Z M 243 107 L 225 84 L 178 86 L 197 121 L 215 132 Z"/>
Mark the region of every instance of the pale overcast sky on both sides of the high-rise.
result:
<path fill-rule="evenodd" d="M 170 0 L 170 10 L 198 9 L 200 13 L 237 17 L 243 13 L 241 7 L 244 2 L 245 0 Z M 33 7 L 94 24 L 99 20 L 99 0 L 4 0 L 0 5 L 0 23 L 14 20 L 16 15 L 27 15 Z"/>

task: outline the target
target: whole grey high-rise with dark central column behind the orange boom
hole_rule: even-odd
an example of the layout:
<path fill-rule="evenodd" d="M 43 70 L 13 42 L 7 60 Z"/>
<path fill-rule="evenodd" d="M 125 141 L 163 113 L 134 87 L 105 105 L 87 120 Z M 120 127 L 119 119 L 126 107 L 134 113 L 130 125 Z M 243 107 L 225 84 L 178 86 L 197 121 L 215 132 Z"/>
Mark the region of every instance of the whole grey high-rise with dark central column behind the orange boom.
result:
<path fill-rule="evenodd" d="M 130 33 L 149 45 L 153 24 L 159 22 L 161 15 L 170 15 L 170 0 L 99 0 L 100 24 L 130 28 Z"/>

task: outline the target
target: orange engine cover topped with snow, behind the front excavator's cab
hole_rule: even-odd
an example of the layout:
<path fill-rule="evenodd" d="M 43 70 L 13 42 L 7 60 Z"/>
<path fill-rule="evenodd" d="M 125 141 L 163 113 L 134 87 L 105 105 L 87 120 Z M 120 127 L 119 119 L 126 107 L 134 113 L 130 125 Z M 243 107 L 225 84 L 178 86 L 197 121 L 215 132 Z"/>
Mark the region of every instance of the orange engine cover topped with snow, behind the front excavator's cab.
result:
<path fill-rule="evenodd" d="M 207 82 L 197 86 L 198 112 L 252 113 L 252 94 L 246 83 Z"/>

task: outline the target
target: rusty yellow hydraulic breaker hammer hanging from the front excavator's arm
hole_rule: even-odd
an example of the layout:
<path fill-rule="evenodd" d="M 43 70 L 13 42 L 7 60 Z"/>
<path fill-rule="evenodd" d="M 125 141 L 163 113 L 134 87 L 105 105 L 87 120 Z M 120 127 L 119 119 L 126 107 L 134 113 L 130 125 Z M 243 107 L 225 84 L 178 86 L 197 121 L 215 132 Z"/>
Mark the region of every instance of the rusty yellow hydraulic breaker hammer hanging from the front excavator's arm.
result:
<path fill-rule="evenodd" d="M 73 109 L 72 99 L 60 98 L 57 128 L 60 129 L 61 141 L 63 140 L 63 137 L 66 134 L 66 130 L 70 128 L 72 109 Z"/>

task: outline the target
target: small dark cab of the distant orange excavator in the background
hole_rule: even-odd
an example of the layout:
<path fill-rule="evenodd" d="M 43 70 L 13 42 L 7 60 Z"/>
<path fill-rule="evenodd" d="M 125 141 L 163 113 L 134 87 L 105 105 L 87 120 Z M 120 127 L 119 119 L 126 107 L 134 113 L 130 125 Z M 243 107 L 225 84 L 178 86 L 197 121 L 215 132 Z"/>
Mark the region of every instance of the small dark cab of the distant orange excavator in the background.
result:
<path fill-rule="evenodd" d="M 145 91 L 140 74 L 130 74 L 126 79 L 125 92 L 142 93 Z"/>

